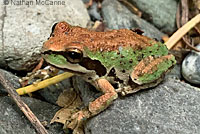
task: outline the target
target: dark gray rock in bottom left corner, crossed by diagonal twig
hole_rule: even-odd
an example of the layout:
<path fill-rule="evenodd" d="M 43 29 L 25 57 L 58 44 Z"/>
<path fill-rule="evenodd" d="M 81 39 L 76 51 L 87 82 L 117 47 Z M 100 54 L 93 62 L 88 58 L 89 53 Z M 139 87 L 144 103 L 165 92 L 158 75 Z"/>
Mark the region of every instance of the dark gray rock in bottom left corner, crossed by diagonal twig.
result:
<path fill-rule="evenodd" d="M 23 100 L 40 121 L 48 122 L 46 129 L 49 134 L 64 134 L 62 125 L 58 123 L 49 125 L 50 120 L 59 109 L 57 106 L 30 97 L 23 97 Z M 0 96 L 0 102 L 0 134 L 37 134 L 10 97 Z"/>

